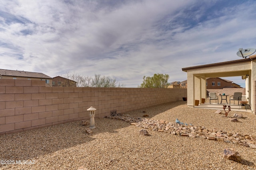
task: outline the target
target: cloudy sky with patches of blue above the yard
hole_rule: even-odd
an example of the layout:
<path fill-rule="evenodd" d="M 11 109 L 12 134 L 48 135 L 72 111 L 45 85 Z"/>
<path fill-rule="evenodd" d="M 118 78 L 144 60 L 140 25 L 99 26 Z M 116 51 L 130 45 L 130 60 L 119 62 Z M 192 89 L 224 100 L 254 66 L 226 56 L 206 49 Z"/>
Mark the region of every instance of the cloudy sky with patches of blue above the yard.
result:
<path fill-rule="evenodd" d="M 0 68 L 62 76 L 143 76 L 242 59 L 256 48 L 254 0 L 2 0 Z M 244 86 L 240 77 L 226 78 Z"/>

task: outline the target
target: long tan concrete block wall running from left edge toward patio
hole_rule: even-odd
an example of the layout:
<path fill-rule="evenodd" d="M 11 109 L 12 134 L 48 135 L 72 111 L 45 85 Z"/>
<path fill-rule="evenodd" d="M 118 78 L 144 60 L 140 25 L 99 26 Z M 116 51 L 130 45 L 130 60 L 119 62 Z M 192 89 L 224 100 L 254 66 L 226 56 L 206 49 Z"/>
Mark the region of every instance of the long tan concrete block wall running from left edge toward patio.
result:
<path fill-rule="evenodd" d="M 186 90 L 186 89 L 185 89 Z M 46 87 L 40 80 L 0 79 L 0 135 L 182 100 L 184 89 Z"/>

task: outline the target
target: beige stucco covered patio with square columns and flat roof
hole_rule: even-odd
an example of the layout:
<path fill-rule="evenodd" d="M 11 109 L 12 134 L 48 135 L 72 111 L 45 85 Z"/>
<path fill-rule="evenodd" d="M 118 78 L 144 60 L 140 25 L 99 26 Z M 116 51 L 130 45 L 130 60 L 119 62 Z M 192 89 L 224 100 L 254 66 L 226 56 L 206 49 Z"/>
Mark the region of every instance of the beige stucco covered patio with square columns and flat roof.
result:
<path fill-rule="evenodd" d="M 244 100 L 248 101 L 250 111 L 255 114 L 255 80 L 256 80 L 256 55 L 250 56 L 249 59 L 240 59 L 226 61 L 222 63 L 205 64 L 182 68 L 187 72 L 188 82 L 188 100 L 189 107 L 220 108 L 223 104 L 202 103 L 202 98 L 206 99 L 206 78 L 213 77 L 231 77 L 241 76 L 245 80 Z M 199 100 L 196 106 L 195 100 Z M 239 109 L 239 105 L 238 106 Z M 234 109 L 236 107 L 234 105 Z M 248 109 L 247 109 L 248 110 Z"/>

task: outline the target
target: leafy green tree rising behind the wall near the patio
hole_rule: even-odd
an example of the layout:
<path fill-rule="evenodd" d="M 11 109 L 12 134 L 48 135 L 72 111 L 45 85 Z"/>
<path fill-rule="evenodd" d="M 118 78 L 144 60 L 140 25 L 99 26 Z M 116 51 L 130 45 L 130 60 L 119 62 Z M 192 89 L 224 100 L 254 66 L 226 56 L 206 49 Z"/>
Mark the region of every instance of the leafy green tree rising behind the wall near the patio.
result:
<path fill-rule="evenodd" d="M 152 77 L 143 77 L 143 82 L 140 84 L 140 88 L 167 88 L 168 86 L 168 74 L 154 74 Z"/>

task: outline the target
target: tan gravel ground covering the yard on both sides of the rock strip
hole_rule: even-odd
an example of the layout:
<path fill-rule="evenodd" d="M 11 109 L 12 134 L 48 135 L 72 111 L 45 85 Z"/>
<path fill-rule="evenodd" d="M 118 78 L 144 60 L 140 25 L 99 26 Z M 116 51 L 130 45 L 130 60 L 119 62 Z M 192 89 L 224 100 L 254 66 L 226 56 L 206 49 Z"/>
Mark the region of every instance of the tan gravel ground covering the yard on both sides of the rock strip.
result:
<path fill-rule="evenodd" d="M 146 111 L 146 113 L 142 113 Z M 243 135 L 256 135 L 256 115 L 231 111 L 228 117 L 212 109 L 196 109 L 186 102 L 172 102 L 127 112 L 131 116 L 182 122 Z M 245 118 L 231 122 L 229 117 L 242 113 Z M 139 135 L 139 127 L 116 119 L 95 119 L 93 133 L 85 133 L 80 121 L 0 136 L 0 160 L 14 160 L 0 170 L 254 170 L 256 149 L 181 137 L 158 131 Z M 245 164 L 223 158 L 225 148 L 240 153 Z M 16 162 L 16 161 L 21 162 Z M 27 162 L 22 162 L 23 160 Z M 25 163 L 25 164 L 21 164 Z"/>

